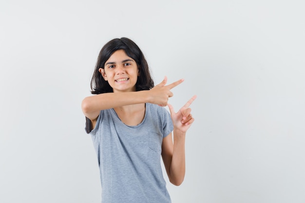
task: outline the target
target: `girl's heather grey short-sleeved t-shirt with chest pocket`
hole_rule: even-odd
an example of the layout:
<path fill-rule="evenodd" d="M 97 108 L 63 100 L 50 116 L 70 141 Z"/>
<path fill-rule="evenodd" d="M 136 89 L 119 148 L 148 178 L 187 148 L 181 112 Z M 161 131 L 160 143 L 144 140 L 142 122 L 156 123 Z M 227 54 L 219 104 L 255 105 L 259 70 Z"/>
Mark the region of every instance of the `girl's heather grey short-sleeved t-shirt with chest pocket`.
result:
<path fill-rule="evenodd" d="M 161 168 L 162 140 L 172 132 L 169 111 L 146 103 L 137 126 L 102 110 L 90 134 L 97 154 L 102 203 L 171 203 Z"/>

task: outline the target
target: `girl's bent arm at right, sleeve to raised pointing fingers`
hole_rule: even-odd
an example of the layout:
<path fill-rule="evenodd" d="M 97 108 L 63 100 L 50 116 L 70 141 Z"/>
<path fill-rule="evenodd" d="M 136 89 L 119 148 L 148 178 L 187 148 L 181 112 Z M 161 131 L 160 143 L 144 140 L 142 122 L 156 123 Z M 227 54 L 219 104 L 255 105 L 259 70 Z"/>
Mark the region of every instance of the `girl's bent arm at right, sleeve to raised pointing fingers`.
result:
<path fill-rule="evenodd" d="M 177 113 L 174 112 L 172 105 L 168 104 L 173 123 L 172 132 L 163 138 L 162 159 L 173 185 L 181 185 L 185 176 L 185 135 L 191 127 L 194 118 L 191 115 L 189 106 L 195 100 L 193 96 Z"/>

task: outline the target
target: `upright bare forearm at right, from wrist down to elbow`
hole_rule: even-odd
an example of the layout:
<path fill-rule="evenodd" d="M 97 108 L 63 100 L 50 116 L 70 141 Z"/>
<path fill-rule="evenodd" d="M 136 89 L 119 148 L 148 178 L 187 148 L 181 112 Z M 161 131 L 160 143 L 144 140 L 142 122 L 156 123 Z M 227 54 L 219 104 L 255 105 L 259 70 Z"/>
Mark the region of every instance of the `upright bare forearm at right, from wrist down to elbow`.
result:
<path fill-rule="evenodd" d="M 181 185 L 185 176 L 185 132 L 173 130 L 173 154 L 171 163 L 171 182 Z"/>

